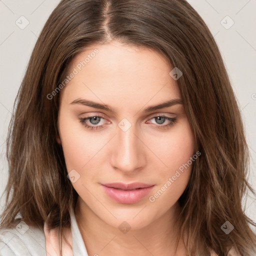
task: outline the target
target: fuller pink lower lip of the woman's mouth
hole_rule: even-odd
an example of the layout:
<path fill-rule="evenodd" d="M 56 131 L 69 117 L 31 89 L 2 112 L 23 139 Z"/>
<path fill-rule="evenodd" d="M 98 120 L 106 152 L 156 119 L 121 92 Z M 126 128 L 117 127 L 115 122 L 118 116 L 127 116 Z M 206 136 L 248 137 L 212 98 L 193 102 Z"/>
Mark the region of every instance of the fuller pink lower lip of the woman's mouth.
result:
<path fill-rule="evenodd" d="M 149 191 L 154 187 L 154 185 L 144 188 L 122 190 L 118 188 L 104 186 L 106 194 L 119 203 L 135 203 L 141 200 Z"/>

